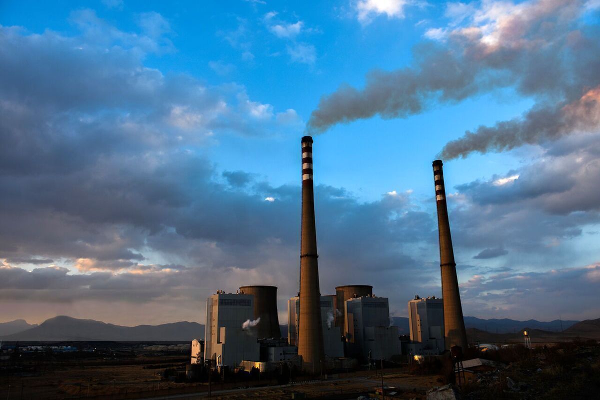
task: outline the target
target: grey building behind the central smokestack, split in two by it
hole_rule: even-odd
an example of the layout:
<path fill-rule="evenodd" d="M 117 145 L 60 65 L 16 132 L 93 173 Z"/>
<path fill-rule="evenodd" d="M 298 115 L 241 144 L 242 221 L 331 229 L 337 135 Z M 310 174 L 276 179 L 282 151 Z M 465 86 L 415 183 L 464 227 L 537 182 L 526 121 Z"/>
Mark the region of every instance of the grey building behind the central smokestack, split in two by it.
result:
<path fill-rule="evenodd" d="M 340 327 L 334 325 L 334 295 L 320 297 L 320 318 L 323 330 L 323 351 L 325 356 L 336 358 L 344 357 L 344 342 L 341 338 Z M 298 342 L 298 325 L 300 312 L 300 298 L 292 297 L 287 301 L 287 337 L 290 345 Z"/>

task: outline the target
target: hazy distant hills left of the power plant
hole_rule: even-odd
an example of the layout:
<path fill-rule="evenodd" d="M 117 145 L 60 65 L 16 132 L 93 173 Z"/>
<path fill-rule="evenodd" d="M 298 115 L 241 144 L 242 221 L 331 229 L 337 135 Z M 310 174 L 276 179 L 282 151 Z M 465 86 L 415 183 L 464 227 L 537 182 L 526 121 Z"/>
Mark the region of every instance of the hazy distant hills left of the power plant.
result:
<path fill-rule="evenodd" d="M 204 326 L 178 322 L 134 327 L 59 316 L 23 332 L 2 336 L 5 341 L 191 341 L 204 338 Z"/>

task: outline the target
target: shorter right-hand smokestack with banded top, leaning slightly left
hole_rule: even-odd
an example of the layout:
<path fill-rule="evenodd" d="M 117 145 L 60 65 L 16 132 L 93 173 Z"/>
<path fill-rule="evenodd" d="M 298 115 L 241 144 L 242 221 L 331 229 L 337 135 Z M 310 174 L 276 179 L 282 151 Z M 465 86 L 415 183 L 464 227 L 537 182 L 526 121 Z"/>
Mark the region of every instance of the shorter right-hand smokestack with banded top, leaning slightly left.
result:
<path fill-rule="evenodd" d="M 464 329 L 463 307 L 460 304 L 460 292 L 458 291 L 456 262 L 454 262 L 454 250 L 452 250 L 442 165 L 442 160 L 433 162 L 433 180 L 436 184 L 437 226 L 440 235 L 440 269 L 442 270 L 446 350 L 458 345 L 464 351 L 467 349 L 467 332 Z"/>

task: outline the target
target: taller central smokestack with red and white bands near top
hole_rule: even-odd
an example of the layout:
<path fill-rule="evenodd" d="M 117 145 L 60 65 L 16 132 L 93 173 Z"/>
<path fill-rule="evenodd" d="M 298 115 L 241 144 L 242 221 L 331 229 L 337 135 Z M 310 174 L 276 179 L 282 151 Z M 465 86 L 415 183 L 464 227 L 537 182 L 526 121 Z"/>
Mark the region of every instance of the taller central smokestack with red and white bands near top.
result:
<path fill-rule="evenodd" d="M 319 265 L 317 264 L 317 232 L 314 225 L 313 138 L 302 138 L 302 228 L 300 231 L 300 315 L 298 354 L 304 369 L 320 372 L 325 359 Z"/>

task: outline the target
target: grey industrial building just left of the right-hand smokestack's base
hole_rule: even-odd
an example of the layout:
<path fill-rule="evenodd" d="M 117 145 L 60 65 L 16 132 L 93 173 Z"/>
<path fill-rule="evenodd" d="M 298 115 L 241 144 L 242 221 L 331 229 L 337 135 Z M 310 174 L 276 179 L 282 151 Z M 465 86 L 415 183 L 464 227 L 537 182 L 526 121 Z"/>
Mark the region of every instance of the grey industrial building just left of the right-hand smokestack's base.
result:
<path fill-rule="evenodd" d="M 442 353 L 445 349 L 443 300 L 435 296 L 421 298 L 416 295 L 409 301 L 408 308 L 410 353 Z"/>

